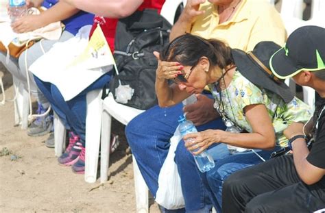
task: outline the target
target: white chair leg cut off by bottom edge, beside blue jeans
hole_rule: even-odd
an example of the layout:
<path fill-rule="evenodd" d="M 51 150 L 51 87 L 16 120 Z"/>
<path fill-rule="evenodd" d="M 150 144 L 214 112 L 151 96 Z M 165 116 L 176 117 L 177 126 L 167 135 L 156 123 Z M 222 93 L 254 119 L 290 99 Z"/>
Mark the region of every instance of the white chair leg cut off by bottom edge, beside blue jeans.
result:
<path fill-rule="evenodd" d="M 134 188 L 136 195 L 136 212 L 143 213 L 149 212 L 149 193 L 147 184 L 143 179 L 139 166 L 132 155 L 133 160 L 133 173 L 134 173 Z"/>

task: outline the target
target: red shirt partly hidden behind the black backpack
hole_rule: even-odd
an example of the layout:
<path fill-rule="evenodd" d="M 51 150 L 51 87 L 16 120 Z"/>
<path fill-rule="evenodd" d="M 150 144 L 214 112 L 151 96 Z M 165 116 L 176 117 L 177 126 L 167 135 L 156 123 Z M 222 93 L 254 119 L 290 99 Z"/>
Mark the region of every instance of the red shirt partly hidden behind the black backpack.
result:
<path fill-rule="evenodd" d="M 163 4 L 165 3 L 165 0 L 145 0 L 140 5 L 138 10 L 144 10 L 146 8 L 152 8 L 157 9 L 160 13 L 161 8 L 163 7 Z M 95 16 L 94 18 L 94 24 L 91 29 L 91 34 L 93 34 L 97 23 L 101 26 L 101 30 L 104 33 L 104 36 L 106 37 L 106 40 L 108 42 L 108 45 L 110 45 L 110 50 L 114 52 L 114 41 L 115 41 L 115 32 L 117 28 L 117 21 L 119 21 L 117 18 L 102 18 L 99 16 Z"/>

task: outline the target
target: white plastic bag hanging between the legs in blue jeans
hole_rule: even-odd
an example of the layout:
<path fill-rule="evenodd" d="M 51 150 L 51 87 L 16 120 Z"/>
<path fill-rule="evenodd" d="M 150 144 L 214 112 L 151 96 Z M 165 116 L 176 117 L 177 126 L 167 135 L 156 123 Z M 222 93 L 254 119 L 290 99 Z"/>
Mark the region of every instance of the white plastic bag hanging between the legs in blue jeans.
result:
<path fill-rule="evenodd" d="M 177 165 L 174 162 L 176 147 L 181 139 L 182 136 L 180 136 L 180 131 L 177 128 L 171 138 L 167 158 L 158 176 L 158 190 L 155 201 L 167 210 L 176 210 L 185 206 L 180 175 L 178 175 Z"/>

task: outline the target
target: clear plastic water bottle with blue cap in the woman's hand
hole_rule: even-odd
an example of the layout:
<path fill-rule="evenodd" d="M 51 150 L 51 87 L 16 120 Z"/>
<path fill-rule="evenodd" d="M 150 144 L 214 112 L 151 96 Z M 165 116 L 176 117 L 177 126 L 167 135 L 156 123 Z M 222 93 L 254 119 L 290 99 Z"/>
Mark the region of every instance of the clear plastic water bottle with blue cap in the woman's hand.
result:
<path fill-rule="evenodd" d="M 180 118 L 178 118 L 178 122 L 180 123 L 179 130 L 182 137 L 186 136 L 186 134 L 197 132 L 197 129 L 193 125 L 193 122 L 187 121 L 184 116 L 180 116 Z M 192 140 L 193 140 L 192 138 L 188 138 L 186 142 L 191 142 Z M 197 150 L 198 149 L 195 149 L 194 151 Z M 209 171 L 211 168 L 215 167 L 215 161 L 213 160 L 211 155 L 208 154 L 206 150 L 198 155 L 193 155 L 193 156 L 197 168 L 199 168 L 200 172 L 205 173 Z"/>

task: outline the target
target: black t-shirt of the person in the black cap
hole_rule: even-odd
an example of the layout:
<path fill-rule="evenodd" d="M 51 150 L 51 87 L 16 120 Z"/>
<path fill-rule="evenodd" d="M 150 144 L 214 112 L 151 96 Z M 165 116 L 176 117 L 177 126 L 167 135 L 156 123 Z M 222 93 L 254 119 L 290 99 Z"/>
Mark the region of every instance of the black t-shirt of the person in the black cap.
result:
<path fill-rule="evenodd" d="M 325 168 L 325 98 L 316 95 L 314 121 L 318 120 L 316 137 L 311 152 L 307 156 L 309 163 L 318 168 Z M 317 119 L 318 118 L 318 119 Z M 325 176 L 321 180 L 325 185 Z"/>

